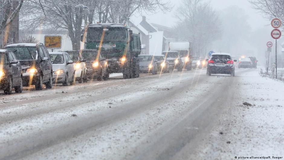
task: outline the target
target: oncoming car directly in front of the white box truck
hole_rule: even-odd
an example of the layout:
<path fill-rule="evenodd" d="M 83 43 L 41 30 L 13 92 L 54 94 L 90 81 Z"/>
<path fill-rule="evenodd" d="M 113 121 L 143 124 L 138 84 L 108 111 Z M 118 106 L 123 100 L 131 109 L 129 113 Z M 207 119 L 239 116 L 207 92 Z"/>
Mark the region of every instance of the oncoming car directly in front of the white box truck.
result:
<path fill-rule="evenodd" d="M 182 71 L 182 59 L 180 58 L 178 51 L 164 51 L 162 54 L 166 56 L 170 70 L 177 69 L 179 72 Z"/>

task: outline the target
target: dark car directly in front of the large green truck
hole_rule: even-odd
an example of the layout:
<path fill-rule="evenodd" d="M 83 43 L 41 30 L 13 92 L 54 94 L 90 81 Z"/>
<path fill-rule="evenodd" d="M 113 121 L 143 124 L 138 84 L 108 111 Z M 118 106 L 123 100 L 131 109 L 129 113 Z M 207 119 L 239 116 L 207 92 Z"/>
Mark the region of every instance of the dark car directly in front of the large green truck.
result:
<path fill-rule="evenodd" d="M 78 55 L 82 56 L 83 62 L 86 64 L 88 79 L 108 80 L 108 63 L 101 54 L 94 49 L 79 50 Z"/>

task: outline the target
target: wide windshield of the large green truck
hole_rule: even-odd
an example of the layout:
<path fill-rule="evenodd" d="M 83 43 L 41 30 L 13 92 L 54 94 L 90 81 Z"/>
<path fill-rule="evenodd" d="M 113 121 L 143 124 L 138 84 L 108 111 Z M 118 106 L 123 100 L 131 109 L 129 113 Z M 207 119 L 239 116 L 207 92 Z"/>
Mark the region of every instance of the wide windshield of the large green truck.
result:
<path fill-rule="evenodd" d="M 103 28 L 94 27 L 88 28 L 87 42 L 101 41 L 103 32 L 105 33 L 103 42 L 125 42 L 127 40 L 127 30 L 125 28 L 108 28 L 108 31 L 103 31 Z"/>

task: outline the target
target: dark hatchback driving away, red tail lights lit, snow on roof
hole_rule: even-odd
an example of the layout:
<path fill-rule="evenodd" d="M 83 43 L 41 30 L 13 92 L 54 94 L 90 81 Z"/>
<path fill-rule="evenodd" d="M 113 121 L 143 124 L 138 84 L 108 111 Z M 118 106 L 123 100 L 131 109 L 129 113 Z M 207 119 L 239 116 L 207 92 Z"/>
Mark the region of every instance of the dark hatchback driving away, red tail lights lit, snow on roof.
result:
<path fill-rule="evenodd" d="M 211 55 L 207 64 L 207 75 L 211 74 L 231 74 L 235 76 L 235 64 L 237 60 L 231 58 L 228 53 L 214 53 Z"/>

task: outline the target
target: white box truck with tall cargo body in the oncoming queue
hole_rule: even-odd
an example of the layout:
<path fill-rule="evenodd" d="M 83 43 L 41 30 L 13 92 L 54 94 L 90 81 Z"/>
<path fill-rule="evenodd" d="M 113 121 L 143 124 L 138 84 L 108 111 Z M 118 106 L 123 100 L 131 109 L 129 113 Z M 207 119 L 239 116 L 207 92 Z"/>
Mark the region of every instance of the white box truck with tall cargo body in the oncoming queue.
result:
<path fill-rule="evenodd" d="M 182 67 L 192 70 L 192 42 L 169 42 L 169 51 L 177 51 L 182 60 Z"/>

